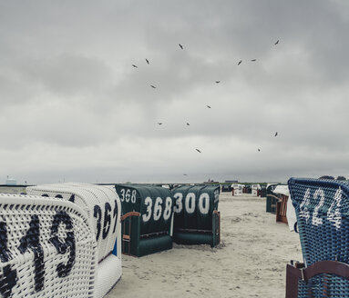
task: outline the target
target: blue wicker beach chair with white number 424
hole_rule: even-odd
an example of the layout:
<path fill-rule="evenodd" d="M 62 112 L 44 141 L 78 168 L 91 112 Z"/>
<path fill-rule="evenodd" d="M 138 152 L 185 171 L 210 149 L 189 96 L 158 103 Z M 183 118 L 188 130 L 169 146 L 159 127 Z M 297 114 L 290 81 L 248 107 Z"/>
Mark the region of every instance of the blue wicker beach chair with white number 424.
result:
<path fill-rule="evenodd" d="M 286 269 L 286 298 L 349 297 L 349 184 L 335 180 L 288 182 L 303 263 Z"/>

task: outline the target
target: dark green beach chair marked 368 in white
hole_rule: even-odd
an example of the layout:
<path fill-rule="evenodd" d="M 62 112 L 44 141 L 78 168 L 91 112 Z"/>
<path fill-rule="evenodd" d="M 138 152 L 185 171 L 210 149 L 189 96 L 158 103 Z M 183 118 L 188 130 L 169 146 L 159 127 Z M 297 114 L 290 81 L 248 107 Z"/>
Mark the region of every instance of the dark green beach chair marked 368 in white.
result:
<path fill-rule="evenodd" d="M 142 256 L 172 248 L 169 236 L 173 216 L 173 196 L 169 189 L 155 185 L 116 184 L 122 214 L 135 211 L 123 222 L 129 241 L 123 253 Z"/>

